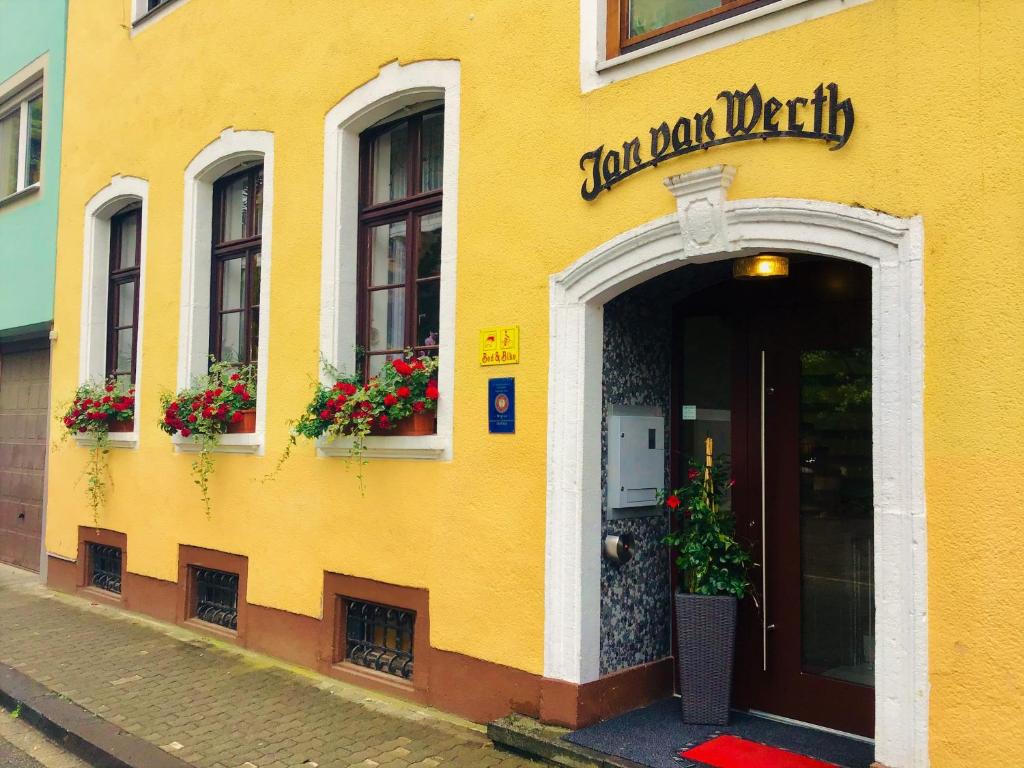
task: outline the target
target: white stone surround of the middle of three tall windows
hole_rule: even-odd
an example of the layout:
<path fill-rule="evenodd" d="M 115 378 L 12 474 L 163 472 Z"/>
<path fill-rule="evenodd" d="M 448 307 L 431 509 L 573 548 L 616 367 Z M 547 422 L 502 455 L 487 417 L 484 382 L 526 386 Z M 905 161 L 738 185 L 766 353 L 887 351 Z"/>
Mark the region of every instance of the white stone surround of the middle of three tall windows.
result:
<path fill-rule="evenodd" d="M 214 451 L 262 456 L 266 437 L 269 371 L 270 267 L 273 243 L 273 134 L 226 128 L 185 169 L 178 333 L 178 389 L 207 373 L 210 352 L 210 272 L 213 246 L 213 184 L 252 162 L 263 164 L 263 232 L 260 244 L 259 338 L 256 362 L 256 431 L 224 434 Z M 176 451 L 199 451 L 190 437 L 174 435 Z"/>

